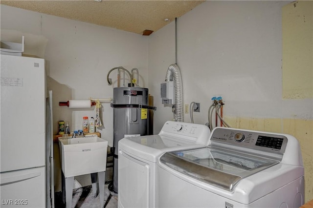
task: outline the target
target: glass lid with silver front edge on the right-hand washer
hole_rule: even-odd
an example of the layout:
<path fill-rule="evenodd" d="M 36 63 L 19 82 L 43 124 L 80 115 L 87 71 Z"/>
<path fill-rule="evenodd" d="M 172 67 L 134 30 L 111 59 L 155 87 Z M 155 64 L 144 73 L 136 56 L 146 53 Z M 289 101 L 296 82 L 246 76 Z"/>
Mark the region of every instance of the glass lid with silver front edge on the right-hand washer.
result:
<path fill-rule="evenodd" d="M 205 183 L 233 190 L 243 179 L 279 162 L 208 147 L 167 152 L 160 163 Z"/>

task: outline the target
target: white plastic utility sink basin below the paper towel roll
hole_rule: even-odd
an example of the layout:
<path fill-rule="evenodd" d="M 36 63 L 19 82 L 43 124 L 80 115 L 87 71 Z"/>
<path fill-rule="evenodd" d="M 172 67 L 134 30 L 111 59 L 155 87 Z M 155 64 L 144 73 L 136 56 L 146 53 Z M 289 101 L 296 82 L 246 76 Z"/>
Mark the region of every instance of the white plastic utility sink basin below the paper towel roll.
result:
<path fill-rule="evenodd" d="M 108 141 L 88 135 L 79 138 L 59 138 L 64 176 L 72 177 L 106 171 Z"/>

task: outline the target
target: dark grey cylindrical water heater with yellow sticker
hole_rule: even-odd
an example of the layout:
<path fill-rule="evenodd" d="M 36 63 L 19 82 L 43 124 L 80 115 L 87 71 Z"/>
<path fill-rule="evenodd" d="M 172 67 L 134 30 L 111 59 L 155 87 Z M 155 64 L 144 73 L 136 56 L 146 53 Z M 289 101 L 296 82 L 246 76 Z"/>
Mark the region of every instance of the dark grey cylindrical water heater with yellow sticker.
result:
<path fill-rule="evenodd" d="M 145 136 L 149 129 L 148 88 L 116 87 L 113 89 L 113 188 L 117 193 L 118 142 L 124 137 Z M 153 132 L 150 132 L 152 134 Z"/>

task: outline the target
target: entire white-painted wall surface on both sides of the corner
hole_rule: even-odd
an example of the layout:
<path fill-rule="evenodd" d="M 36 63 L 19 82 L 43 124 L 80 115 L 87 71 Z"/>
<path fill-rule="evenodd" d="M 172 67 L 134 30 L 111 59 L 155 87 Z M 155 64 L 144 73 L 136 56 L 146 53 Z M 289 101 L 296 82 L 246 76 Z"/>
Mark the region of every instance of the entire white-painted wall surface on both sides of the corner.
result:
<path fill-rule="evenodd" d="M 289 2 L 206 1 L 178 19 L 184 104 L 201 104 L 195 123 L 207 122 L 216 95 L 223 97 L 227 116 L 312 119 L 311 99 L 281 98 L 281 8 Z M 106 76 L 120 65 L 137 67 L 140 85 L 154 96 L 154 133 L 173 118 L 171 108 L 161 104 L 159 84 L 175 63 L 174 21 L 145 37 L 1 5 L 1 40 L 19 41 L 21 35 L 25 53 L 46 60 L 48 87 L 54 90 L 55 133 L 59 120 L 69 121 L 73 130 L 80 128 L 82 116 L 94 115 L 92 109 L 70 110 L 58 103 L 112 97 L 116 82 L 108 86 Z M 116 73 L 110 77 L 114 81 Z M 112 146 L 112 108 L 103 104 L 103 110 L 105 128 L 100 132 Z M 189 114 L 184 121 L 190 121 Z"/>

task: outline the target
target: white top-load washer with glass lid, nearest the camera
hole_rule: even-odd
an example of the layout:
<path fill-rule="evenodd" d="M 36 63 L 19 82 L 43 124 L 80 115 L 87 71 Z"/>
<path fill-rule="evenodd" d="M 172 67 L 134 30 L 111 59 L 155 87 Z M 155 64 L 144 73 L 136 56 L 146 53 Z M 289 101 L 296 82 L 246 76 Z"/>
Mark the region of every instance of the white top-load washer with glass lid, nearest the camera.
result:
<path fill-rule="evenodd" d="M 299 143 L 286 134 L 217 127 L 209 146 L 159 158 L 157 196 L 157 207 L 299 208 Z"/>

